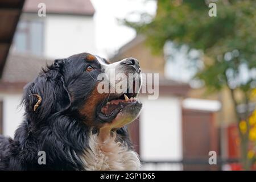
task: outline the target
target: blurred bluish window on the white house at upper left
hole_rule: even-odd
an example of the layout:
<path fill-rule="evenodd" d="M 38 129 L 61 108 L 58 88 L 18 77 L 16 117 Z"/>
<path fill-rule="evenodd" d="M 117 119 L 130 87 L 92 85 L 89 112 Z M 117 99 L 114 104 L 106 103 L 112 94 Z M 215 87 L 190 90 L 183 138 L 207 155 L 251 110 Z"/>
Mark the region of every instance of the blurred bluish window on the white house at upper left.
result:
<path fill-rule="evenodd" d="M 13 47 L 16 52 L 42 55 L 43 22 L 38 20 L 21 20 L 15 32 Z"/>

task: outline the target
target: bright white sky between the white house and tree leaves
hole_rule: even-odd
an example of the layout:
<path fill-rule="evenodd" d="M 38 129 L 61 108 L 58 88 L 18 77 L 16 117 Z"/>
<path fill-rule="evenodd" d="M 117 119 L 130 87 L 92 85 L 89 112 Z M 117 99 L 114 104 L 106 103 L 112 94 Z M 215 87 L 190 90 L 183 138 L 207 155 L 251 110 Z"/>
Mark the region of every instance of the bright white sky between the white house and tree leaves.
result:
<path fill-rule="evenodd" d="M 133 39 L 136 32 L 118 23 L 117 19 L 129 17 L 138 20 L 138 16 L 131 13 L 141 12 L 155 14 L 156 1 L 152 0 L 91 0 L 96 10 L 96 47 L 98 54 L 103 57 L 113 55 L 120 47 Z"/>

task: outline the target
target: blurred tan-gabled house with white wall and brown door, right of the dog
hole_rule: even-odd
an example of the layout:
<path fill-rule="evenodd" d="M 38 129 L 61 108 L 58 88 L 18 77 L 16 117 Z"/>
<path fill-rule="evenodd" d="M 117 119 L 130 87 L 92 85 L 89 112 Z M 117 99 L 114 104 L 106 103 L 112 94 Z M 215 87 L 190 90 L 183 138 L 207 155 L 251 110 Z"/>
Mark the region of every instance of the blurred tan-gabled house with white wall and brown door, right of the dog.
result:
<path fill-rule="evenodd" d="M 139 95 L 143 110 L 139 122 L 130 126 L 132 136 L 139 137 L 133 140 L 141 159 L 146 162 L 143 169 L 217 169 L 208 164 L 208 154 L 213 150 L 220 155 L 220 101 L 216 97 L 204 97 L 201 89 L 191 89 L 189 82 L 179 80 L 189 73 L 179 65 L 171 64 L 171 70 L 176 73 L 169 75 L 180 77 L 167 78 L 166 72 L 170 69 L 166 69 L 164 55 L 153 55 L 144 42 L 145 38 L 138 35 L 112 57 L 113 61 L 136 57 L 143 72 L 159 73 L 159 98 L 148 100 L 147 94 Z M 191 159 L 202 159 L 205 163 L 179 165 Z M 168 162 L 177 165 L 168 166 Z"/>

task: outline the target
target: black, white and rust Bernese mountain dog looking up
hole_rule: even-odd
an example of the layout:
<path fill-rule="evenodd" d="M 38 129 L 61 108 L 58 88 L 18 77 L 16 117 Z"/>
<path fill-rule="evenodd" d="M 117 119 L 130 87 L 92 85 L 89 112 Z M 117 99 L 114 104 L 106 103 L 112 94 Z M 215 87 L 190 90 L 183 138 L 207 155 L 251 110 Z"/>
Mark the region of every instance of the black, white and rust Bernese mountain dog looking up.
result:
<path fill-rule="evenodd" d="M 98 92 L 97 76 L 111 76 L 113 69 L 114 76 L 137 74 L 133 81 L 139 86 L 113 92 L 114 84 L 129 82 L 119 78 L 108 82 L 109 93 Z M 140 88 L 141 69 L 134 58 L 110 64 L 80 53 L 55 60 L 24 87 L 24 121 L 14 139 L 0 135 L 0 170 L 139 169 L 126 124 L 142 109 L 135 98 Z"/>

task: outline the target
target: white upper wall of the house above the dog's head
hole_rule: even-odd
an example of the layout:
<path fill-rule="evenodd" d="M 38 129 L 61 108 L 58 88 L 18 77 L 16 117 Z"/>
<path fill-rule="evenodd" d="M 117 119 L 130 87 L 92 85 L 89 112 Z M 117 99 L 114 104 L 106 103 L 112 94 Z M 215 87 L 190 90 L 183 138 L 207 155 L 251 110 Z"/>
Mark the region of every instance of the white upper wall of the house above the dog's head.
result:
<path fill-rule="evenodd" d="M 44 53 L 47 57 L 63 58 L 81 52 L 97 53 L 92 16 L 47 15 L 44 35 Z"/>

